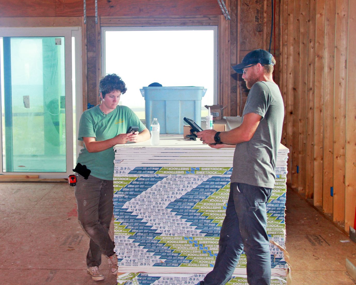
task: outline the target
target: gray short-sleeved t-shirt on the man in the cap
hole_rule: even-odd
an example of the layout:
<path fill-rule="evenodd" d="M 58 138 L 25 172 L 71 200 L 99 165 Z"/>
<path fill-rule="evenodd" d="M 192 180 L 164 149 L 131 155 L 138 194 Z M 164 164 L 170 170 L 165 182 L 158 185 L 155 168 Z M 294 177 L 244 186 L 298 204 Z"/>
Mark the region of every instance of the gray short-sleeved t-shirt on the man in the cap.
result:
<path fill-rule="evenodd" d="M 248 93 L 244 115 L 262 116 L 250 141 L 236 145 L 231 182 L 273 188 L 282 136 L 284 104 L 276 83 L 259 81 Z"/>

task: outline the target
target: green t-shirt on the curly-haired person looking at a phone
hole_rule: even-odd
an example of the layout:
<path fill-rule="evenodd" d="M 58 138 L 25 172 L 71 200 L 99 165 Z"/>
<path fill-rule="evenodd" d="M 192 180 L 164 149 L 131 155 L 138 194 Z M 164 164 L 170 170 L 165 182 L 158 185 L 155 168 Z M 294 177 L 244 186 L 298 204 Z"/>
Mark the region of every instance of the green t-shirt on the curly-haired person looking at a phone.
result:
<path fill-rule="evenodd" d="M 79 123 L 78 140 L 83 140 L 83 137 L 94 137 L 96 141 L 112 139 L 119 134 L 126 133 L 130 126 L 138 126 L 139 132 L 146 128 L 129 107 L 118 105 L 114 111 L 105 115 L 97 105 L 83 112 Z M 112 147 L 100 152 L 88 152 L 84 144 L 77 163 L 86 165 L 91 171 L 90 175 L 113 180 L 114 158 Z"/>

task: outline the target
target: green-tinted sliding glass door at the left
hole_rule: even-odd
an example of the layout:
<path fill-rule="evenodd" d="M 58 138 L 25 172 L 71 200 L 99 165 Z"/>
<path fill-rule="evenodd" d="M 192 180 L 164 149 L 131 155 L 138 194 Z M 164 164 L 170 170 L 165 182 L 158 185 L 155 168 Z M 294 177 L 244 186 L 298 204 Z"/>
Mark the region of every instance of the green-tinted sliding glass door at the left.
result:
<path fill-rule="evenodd" d="M 68 28 L 46 30 L 54 35 L 1 36 L 0 30 L 4 174 L 35 172 L 66 176 L 72 172 L 76 121 L 73 93 L 77 93 L 72 82 L 78 81 L 72 57 L 75 41 Z M 79 59 L 77 65 L 81 64 Z"/>

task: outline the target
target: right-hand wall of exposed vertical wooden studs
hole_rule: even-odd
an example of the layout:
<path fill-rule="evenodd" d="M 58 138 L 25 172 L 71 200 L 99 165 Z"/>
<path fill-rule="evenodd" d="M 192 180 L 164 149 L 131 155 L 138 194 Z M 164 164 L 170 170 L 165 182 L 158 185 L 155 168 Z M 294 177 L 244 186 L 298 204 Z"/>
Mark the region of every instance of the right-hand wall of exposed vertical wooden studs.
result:
<path fill-rule="evenodd" d="M 300 166 L 298 182 L 292 174 L 288 185 L 298 186 L 299 192 L 305 187 L 305 198 L 313 199 L 320 211 L 347 232 L 354 226 L 356 207 L 356 83 L 352 72 L 356 68 L 356 6 L 351 0 L 285 0 L 280 7 L 282 62 L 287 61 L 282 67 L 281 90 L 287 97 L 286 144 L 292 150 L 288 171 L 294 171 L 296 147 Z M 298 80 L 299 90 L 295 88 Z M 290 92 L 294 92 L 293 100 Z M 293 113 L 293 129 L 289 112 Z"/>

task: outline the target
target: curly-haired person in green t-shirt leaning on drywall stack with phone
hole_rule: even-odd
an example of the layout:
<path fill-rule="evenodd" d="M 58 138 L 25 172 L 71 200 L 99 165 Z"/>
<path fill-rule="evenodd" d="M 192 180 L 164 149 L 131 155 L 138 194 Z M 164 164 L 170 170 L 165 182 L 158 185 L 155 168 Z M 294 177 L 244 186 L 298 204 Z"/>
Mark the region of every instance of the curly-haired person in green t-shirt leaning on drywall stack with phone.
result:
<path fill-rule="evenodd" d="M 128 107 L 118 105 L 126 90 L 119 76 L 106 75 L 99 84 L 101 104 L 85 110 L 79 123 L 78 140 L 82 140 L 84 146 L 77 163 L 86 165 L 90 175 L 84 178 L 76 173 L 78 179 L 74 194 L 78 220 L 90 237 L 87 272 L 95 281 L 104 279 L 99 271 L 101 254 L 108 258 L 110 272 L 117 274 L 114 242 L 109 235 L 114 195 L 113 146 L 150 138 L 150 132 L 136 114 Z M 126 134 L 130 126 L 138 126 L 138 131 Z"/>

